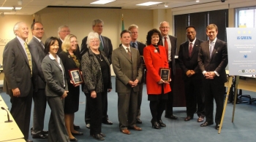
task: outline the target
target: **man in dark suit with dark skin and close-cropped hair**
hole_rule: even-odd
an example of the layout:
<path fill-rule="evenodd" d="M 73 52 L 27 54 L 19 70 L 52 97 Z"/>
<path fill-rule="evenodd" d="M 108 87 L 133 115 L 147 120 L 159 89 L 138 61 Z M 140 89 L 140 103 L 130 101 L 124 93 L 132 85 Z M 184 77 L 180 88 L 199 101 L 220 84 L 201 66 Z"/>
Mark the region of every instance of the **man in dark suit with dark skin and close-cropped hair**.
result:
<path fill-rule="evenodd" d="M 194 26 L 188 26 L 187 42 L 181 44 L 178 52 L 178 64 L 183 71 L 184 89 L 187 106 L 187 117 L 185 121 L 193 119 L 195 111 L 197 111 L 197 122 L 203 122 L 205 117 L 203 103 L 203 87 L 200 68 L 198 67 L 197 58 L 200 44 L 203 42 L 196 38 Z"/>

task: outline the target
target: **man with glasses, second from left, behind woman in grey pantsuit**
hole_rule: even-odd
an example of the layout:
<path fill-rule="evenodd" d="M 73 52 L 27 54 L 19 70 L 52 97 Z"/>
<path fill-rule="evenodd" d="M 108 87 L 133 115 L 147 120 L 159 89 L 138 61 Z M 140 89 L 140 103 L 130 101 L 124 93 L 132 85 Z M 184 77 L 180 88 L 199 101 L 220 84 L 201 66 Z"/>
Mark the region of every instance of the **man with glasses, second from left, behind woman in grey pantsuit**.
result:
<path fill-rule="evenodd" d="M 45 77 L 42 74 L 41 63 L 45 58 L 45 46 L 42 43 L 44 28 L 42 23 L 34 22 L 31 25 L 33 38 L 29 42 L 32 58 L 37 66 L 37 88 L 33 91 L 34 114 L 33 127 L 31 128 L 32 138 L 48 138 L 48 131 L 43 131 L 45 122 L 46 95 L 45 95 Z"/>

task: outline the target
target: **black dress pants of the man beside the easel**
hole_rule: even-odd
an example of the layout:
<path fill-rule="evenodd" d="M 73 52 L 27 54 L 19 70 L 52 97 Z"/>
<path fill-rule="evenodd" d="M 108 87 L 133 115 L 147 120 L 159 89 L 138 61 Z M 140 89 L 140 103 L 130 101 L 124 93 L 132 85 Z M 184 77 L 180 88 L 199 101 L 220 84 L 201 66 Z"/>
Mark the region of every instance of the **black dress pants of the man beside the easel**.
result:
<path fill-rule="evenodd" d="M 218 76 L 216 76 L 218 77 Z M 225 87 L 224 83 L 216 84 L 214 80 L 204 79 L 203 88 L 205 93 L 206 122 L 214 122 L 214 100 L 216 102 L 215 123 L 219 124 L 222 119 L 224 106 Z"/>

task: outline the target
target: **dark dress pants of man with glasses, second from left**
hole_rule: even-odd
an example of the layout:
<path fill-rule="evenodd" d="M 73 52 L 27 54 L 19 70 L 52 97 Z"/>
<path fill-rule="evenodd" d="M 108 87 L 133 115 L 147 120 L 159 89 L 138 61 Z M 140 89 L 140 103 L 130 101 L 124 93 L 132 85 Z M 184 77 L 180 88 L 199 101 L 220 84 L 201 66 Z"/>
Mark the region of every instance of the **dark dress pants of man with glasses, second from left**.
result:
<path fill-rule="evenodd" d="M 32 134 L 41 133 L 44 129 L 45 109 L 46 109 L 46 95 L 45 89 L 39 89 L 33 93 L 34 100 L 34 114 L 33 114 L 33 130 Z"/>

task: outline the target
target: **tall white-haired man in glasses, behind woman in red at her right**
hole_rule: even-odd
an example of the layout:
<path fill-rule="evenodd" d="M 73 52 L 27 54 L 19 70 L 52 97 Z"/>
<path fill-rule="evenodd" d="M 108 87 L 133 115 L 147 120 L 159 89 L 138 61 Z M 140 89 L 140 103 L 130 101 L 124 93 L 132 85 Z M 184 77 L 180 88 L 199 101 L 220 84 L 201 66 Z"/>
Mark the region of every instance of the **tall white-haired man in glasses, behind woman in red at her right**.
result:
<path fill-rule="evenodd" d="M 160 23 L 159 30 L 162 34 L 162 40 L 160 39 L 160 44 L 165 47 L 167 53 L 167 60 L 169 63 L 169 68 L 171 68 L 171 79 L 170 88 L 171 92 L 168 93 L 168 100 L 166 102 L 166 109 L 165 109 L 165 117 L 170 119 L 178 119 L 176 116 L 173 115 L 173 82 L 176 73 L 176 66 L 175 66 L 175 53 L 176 53 L 176 42 L 177 38 L 174 36 L 168 35 L 170 30 L 170 25 L 168 22 L 163 21 Z"/>

